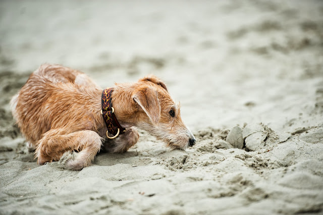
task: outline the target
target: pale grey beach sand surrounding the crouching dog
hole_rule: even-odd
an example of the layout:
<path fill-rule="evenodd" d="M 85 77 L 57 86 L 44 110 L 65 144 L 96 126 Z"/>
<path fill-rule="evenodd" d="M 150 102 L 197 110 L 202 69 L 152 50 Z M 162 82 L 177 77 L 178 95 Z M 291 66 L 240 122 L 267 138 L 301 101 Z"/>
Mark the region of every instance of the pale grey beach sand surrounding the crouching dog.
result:
<path fill-rule="evenodd" d="M 323 213 L 322 23 L 321 1 L 2 1 L 0 213 Z M 9 101 L 46 62 L 159 76 L 196 144 L 140 131 L 82 171 L 38 166 Z"/>

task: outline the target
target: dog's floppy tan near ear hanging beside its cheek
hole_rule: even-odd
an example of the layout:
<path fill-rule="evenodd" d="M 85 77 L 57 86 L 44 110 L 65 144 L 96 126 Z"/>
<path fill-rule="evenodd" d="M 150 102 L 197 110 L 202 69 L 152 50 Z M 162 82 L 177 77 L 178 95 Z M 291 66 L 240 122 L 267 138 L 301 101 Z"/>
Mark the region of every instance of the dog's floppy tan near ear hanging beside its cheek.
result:
<path fill-rule="evenodd" d="M 156 125 L 160 119 L 160 104 L 157 92 L 148 87 L 137 91 L 132 98 L 147 114 L 152 124 Z"/>

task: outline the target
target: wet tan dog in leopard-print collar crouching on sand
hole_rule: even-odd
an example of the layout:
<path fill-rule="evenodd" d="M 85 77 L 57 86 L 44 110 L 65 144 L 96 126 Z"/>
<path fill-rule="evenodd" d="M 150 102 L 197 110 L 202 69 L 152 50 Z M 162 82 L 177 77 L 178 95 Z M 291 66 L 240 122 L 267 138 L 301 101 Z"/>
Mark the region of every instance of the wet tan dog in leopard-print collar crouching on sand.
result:
<path fill-rule="evenodd" d="M 122 153 L 135 145 L 136 127 L 172 149 L 196 142 L 181 119 L 180 104 L 153 75 L 102 90 L 80 71 L 44 64 L 12 98 L 11 107 L 39 165 L 62 158 L 65 169 L 81 170 L 101 147 Z"/>

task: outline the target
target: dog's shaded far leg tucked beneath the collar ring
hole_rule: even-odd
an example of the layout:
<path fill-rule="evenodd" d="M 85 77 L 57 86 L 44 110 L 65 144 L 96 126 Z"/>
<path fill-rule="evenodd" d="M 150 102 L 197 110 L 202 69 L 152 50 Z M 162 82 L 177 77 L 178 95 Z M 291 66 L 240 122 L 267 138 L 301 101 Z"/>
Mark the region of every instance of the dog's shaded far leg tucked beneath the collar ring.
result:
<path fill-rule="evenodd" d="M 107 152 L 112 153 L 123 153 L 136 144 L 139 139 L 139 134 L 134 127 L 126 129 L 125 133 L 120 135 L 118 138 L 107 141 L 103 144 L 104 149 Z"/>

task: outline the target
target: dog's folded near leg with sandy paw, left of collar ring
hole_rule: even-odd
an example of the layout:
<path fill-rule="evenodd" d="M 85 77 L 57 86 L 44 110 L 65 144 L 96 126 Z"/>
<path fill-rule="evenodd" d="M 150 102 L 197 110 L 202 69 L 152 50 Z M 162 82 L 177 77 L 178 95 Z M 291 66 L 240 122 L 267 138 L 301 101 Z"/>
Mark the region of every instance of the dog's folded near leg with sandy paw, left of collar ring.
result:
<path fill-rule="evenodd" d="M 38 157 L 38 164 L 44 164 L 59 160 L 67 152 L 61 163 L 63 168 L 81 170 L 91 164 L 101 144 L 102 138 L 94 131 L 62 134 L 62 130 L 52 129 L 37 142 L 35 156 Z"/>

